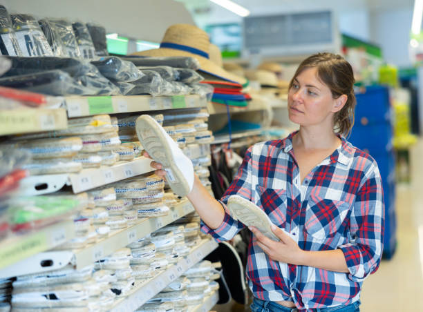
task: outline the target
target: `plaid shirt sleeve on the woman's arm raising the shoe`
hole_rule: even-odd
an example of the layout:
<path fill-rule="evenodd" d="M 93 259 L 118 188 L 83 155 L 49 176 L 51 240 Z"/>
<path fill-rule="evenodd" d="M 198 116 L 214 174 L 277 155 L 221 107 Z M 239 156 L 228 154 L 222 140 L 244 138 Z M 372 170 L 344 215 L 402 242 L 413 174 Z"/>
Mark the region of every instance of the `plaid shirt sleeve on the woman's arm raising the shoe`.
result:
<path fill-rule="evenodd" d="M 201 231 L 206 234 L 212 235 L 218 242 L 224 240 L 231 240 L 239 231 L 245 228 L 245 225 L 231 217 L 229 210 L 227 209 L 227 199 L 231 195 L 239 195 L 245 199 L 251 200 L 251 181 L 252 181 L 252 147 L 248 148 L 243 159 L 243 163 L 238 168 L 238 173 L 234 177 L 231 185 L 227 188 L 225 194 L 220 199 L 225 210 L 225 217 L 223 218 L 222 224 L 218 228 L 209 228 L 207 224 L 201 220 Z"/>

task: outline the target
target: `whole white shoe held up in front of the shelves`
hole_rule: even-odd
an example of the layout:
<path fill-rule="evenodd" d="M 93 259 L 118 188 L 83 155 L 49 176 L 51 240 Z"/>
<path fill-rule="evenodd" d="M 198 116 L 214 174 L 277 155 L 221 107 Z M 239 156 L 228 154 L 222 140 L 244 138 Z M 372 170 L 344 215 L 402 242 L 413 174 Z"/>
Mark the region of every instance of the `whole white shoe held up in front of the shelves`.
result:
<path fill-rule="evenodd" d="M 141 115 L 136 121 L 138 139 L 151 158 L 162 164 L 166 179 L 174 193 L 187 195 L 194 185 L 194 166 L 182 153 L 178 144 L 149 115 Z"/>

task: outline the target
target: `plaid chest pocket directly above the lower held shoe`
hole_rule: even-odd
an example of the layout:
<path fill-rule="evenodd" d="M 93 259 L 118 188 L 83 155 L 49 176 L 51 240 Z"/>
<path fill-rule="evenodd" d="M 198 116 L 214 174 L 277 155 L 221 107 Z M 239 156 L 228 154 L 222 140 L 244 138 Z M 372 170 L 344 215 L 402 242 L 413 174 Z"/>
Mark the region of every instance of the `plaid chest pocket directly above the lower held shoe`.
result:
<path fill-rule="evenodd" d="M 286 222 L 286 190 L 265 188 L 256 184 L 255 204 L 263 209 L 276 226 L 285 226 Z"/>

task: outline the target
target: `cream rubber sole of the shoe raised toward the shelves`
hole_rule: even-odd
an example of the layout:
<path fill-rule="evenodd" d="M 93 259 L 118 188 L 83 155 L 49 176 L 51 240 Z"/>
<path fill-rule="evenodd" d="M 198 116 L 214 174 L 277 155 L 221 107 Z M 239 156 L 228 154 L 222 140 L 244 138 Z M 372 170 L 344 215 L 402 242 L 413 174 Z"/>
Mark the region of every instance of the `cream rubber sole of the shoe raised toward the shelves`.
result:
<path fill-rule="evenodd" d="M 167 182 L 172 191 L 181 197 L 187 195 L 191 188 L 176 164 L 171 146 L 169 146 L 164 130 L 160 129 L 160 124 L 149 115 L 141 115 L 136 120 L 135 129 L 138 139 L 140 139 L 147 153 L 156 162 L 162 164 L 164 171 L 166 171 Z"/>

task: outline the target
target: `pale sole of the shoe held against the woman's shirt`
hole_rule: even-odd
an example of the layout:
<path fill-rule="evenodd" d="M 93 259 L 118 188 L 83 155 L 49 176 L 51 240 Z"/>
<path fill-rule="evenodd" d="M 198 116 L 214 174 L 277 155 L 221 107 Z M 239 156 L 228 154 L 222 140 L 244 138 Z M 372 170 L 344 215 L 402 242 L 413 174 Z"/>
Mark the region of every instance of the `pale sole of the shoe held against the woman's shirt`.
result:
<path fill-rule="evenodd" d="M 270 228 L 272 222 L 259 206 L 239 195 L 232 195 L 227 200 L 227 208 L 234 219 L 241 221 L 246 226 L 255 226 L 263 235 L 271 240 L 279 241 Z"/>

